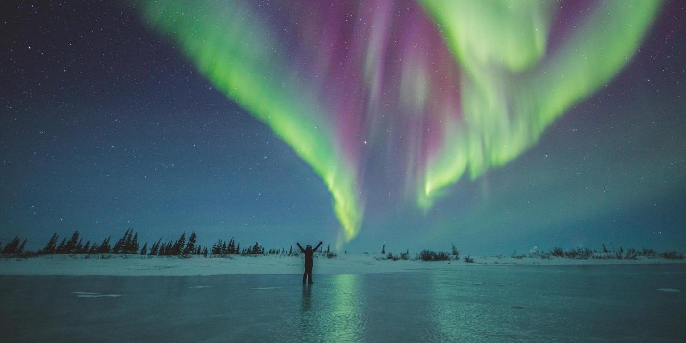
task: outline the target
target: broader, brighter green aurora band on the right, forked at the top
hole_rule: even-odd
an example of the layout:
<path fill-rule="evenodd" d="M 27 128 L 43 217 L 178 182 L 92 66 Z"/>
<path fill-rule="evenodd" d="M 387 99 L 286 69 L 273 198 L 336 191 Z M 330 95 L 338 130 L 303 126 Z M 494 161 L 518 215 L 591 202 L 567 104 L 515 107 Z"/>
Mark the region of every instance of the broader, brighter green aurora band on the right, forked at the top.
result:
<path fill-rule="evenodd" d="M 613 78 L 639 47 L 661 1 L 602 1 L 545 57 L 554 1 L 422 0 L 461 77 L 462 118 L 445 126 L 419 204 L 431 206 L 467 167 L 475 179 L 536 143 L 553 121 Z M 449 114 L 447 117 L 454 117 Z"/>

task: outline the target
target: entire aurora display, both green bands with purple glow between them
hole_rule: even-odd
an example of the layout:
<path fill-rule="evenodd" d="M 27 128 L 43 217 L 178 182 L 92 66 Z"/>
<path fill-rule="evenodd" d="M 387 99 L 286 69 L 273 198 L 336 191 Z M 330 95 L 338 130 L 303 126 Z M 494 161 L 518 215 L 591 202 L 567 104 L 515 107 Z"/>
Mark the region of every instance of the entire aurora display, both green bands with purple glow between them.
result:
<path fill-rule="evenodd" d="M 288 1 L 143 3 L 152 27 L 324 180 L 346 243 L 363 215 L 361 145 L 385 143 L 377 131 L 409 137 L 394 142 L 397 186 L 429 209 L 466 169 L 475 179 L 517 158 L 610 81 L 660 6 L 599 1 L 558 37 L 565 8 L 552 1 L 327 1 L 321 16 Z"/>

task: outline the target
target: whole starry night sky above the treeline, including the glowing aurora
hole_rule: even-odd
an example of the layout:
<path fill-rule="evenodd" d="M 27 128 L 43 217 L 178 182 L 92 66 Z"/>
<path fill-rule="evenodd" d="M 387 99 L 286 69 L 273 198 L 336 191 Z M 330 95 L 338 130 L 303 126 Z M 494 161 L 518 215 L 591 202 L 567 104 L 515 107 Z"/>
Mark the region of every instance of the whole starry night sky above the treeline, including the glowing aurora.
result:
<path fill-rule="evenodd" d="M 3 1 L 0 241 L 685 248 L 684 3 L 296 3 Z"/>

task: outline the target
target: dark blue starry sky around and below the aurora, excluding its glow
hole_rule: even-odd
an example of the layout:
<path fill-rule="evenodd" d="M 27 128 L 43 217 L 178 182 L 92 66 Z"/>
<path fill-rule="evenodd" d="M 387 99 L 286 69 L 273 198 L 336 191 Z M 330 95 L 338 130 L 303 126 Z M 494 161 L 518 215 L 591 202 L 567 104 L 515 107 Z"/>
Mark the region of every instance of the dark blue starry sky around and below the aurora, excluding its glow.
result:
<path fill-rule="evenodd" d="M 628 67 L 517 160 L 460 180 L 429 213 L 372 198 L 347 249 L 683 250 L 685 7 L 667 3 Z M 309 165 L 130 8 L 5 1 L 0 25 L 0 241 L 36 250 L 54 232 L 130 227 L 143 241 L 335 240 Z"/>

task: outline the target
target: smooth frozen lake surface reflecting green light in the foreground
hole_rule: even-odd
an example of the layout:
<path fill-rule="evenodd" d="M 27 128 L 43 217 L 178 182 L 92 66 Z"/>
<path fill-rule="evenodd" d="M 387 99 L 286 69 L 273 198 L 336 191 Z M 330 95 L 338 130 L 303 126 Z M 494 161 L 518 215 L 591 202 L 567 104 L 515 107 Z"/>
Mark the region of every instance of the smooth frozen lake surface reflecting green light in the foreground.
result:
<path fill-rule="evenodd" d="M 315 269 L 316 272 L 316 269 Z M 0 276 L 5 342 L 685 342 L 686 265 Z"/>

